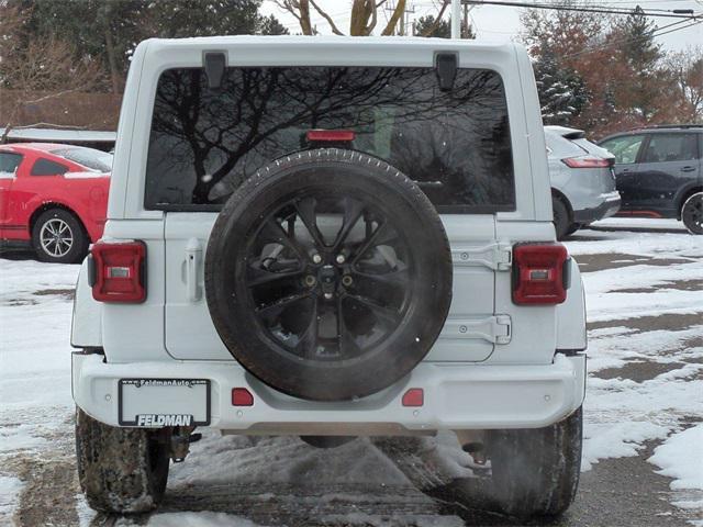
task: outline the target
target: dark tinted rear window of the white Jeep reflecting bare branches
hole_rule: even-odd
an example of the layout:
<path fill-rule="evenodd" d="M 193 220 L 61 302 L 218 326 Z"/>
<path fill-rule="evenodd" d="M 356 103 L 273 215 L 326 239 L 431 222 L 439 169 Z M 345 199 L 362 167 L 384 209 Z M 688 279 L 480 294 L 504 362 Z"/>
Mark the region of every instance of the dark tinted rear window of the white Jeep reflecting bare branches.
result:
<path fill-rule="evenodd" d="M 146 168 L 147 209 L 216 210 L 257 169 L 309 148 L 313 128 L 355 132 L 352 148 L 420 183 L 440 212 L 514 210 L 503 83 L 459 69 L 440 91 L 434 68 L 201 68 L 159 78 Z"/>

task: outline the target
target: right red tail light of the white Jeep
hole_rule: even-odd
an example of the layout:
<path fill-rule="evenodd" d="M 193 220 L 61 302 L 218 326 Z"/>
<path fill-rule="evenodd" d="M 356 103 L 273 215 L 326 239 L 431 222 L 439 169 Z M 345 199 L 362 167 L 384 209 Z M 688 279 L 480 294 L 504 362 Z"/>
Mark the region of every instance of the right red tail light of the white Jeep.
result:
<path fill-rule="evenodd" d="M 560 244 L 521 244 L 513 248 L 513 302 L 560 304 L 567 299 L 569 255 Z"/>

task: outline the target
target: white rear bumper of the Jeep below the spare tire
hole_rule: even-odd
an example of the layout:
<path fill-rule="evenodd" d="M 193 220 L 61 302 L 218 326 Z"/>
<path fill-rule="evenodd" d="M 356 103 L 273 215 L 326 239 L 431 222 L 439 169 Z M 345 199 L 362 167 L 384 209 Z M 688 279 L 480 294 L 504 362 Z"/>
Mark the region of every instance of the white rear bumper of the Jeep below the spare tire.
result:
<path fill-rule="evenodd" d="M 319 403 L 281 394 L 235 362 L 105 363 L 72 354 L 72 394 L 92 417 L 119 426 L 120 379 L 209 379 L 210 426 L 237 434 L 403 435 L 442 429 L 537 428 L 583 402 L 585 356 L 555 356 L 544 366 L 423 362 L 394 385 L 357 401 Z M 253 406 L 233 406 L 233 388 L 247 388 Z M 409 388 L 424 389 L 424 405 L 403 407 Z M 138 397 L 138 396 L 137 396 Z M 132 402 L 134 404 L 134 401 Z M 153 397 L 140 413 L 158 414 Z M 172 407 L 164 413 L 172 413 Z"/>

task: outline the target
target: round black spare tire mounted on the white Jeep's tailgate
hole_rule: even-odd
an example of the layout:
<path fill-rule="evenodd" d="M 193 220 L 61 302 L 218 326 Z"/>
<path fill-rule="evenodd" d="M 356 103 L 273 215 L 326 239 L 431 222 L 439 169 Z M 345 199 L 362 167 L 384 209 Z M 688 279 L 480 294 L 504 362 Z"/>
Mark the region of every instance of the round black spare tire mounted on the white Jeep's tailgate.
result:
<path fill-rule="evenodd" d="M 208 307 L 235 359 L 295 397 L 378 392 L 427 354 L 451 302 L 432 203 L 390 165 L 314 149 L 258 170 L 228 199 L 205 256 Z"/>

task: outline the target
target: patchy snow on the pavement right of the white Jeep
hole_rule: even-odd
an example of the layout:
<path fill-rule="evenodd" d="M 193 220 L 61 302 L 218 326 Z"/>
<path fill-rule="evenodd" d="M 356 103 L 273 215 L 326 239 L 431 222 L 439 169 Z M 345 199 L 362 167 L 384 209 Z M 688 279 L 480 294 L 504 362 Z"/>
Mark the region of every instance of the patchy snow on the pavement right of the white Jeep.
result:
<path fill-rule="evenodd" d="M 701 425 L 683 430 L 703 419 L 703 239 L 591 229 L 571 239 L 570 254 L 590 264 L 581 269 L 589 322 L 613 321 L 589 332 L 583 470 L 601 459 L 637 456 L 646 441 L 663 440 L 649 461 L 674 478 L 676 505 L 703 514 L 703 440 L 695 441 Z M 589 259 L 602 254 L 623 256 L 600 267 Z M 601 269 L 614 265 L 624 267 Z M 658 329 L 637 323 L 665 315 L 693 315 L 700 324 Z M 651 372 L 635 381 L 617 374 L 618 368 Z M 609 369 L 611 375 L 599 377 Z"/>

